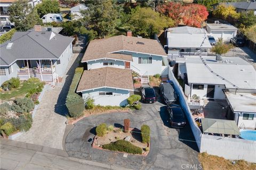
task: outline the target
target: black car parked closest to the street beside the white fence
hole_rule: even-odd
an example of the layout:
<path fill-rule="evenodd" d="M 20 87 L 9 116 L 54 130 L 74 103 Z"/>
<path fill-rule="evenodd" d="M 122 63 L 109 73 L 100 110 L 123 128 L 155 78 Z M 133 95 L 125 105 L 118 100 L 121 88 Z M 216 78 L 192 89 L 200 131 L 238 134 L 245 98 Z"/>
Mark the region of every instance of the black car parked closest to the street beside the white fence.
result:
<path fill-rule="evenodd" d="M 167 112 L 170 116 L 172 128 L 182 128 L 186 125 L 185 114 L 179 105 L 171 104 L 167 106 Z"/>

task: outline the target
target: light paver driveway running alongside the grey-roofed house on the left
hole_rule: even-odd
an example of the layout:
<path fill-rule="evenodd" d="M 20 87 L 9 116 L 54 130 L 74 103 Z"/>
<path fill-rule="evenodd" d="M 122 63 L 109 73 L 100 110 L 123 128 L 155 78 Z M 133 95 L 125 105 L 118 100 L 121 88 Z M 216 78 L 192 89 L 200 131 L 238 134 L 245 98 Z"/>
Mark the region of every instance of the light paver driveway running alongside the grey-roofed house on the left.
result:
<path fill-rule="evenodd" d="M 83 54 L 73 54 L 67 74 L 54 88 L 48 88 L 39 104 L 30 130 L 15 140 L 51 148 L 63 149 L 62 140 L 66 129 L 65 100 L 78 59 Z"/>

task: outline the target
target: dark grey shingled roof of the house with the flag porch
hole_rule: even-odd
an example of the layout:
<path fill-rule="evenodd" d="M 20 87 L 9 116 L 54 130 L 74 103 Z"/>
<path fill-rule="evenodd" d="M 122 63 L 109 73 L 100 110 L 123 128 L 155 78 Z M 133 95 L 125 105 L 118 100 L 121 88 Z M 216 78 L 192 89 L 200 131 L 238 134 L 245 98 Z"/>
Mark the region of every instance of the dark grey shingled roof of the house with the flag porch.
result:
<path fill-rule="evenodd" d="M 52 31 L 15 32 L 10 41 L 0 45 L 1 66 L 17 60 L 58 59 L 73 40 Z M 6 48 L 9 43 L 11 48 Z"/>

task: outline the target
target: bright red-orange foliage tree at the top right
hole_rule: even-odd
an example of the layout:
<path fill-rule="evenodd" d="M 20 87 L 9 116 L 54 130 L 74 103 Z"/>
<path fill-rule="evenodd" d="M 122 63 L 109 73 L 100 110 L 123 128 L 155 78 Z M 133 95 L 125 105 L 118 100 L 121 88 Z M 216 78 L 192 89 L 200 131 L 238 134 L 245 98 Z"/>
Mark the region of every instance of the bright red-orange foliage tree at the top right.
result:
<path fill-rule="evenodd" d="M 157 6 L 157 11 L 172 18 L 176 25 L 183 23 L 188 26 L 201 28 L 209 13 L 204 5 L 169 2 Z"/>

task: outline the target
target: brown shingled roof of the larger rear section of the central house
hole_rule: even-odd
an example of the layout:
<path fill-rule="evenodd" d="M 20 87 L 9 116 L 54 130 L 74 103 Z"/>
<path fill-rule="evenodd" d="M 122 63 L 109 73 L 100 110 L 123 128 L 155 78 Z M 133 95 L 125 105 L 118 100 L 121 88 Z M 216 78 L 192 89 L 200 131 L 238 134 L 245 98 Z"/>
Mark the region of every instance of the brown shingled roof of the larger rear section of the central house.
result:
<path fill-rule="evenodd" d="M 159 44 L 157 40 L 138 37 L 115 36 L 92 40 L 85 51 L 82 62 L 98 60 L 100 58 L 109 58 L 107 57 L 108 53 L 113 53 L 120 50 L 166 56 L 162 45 Z M 124 60 L 124 58 L 121 56 L 119 58 L 120 60 Z M 116 57 L 113 59 L 118 60 Z M 125 58 L 125 60 L 127 59 Z"/>

